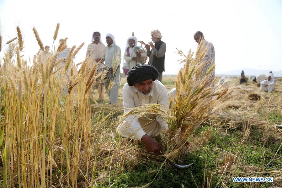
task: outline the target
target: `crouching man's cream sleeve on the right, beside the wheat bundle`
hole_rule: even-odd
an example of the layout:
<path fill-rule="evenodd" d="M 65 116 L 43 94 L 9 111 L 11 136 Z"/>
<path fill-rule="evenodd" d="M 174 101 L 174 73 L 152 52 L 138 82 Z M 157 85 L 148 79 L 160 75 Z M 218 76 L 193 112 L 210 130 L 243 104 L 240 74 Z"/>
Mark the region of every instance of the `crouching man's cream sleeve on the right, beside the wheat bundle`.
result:
<path fill-rule="evenodd" d="M 164 87 L 160 89 L 160 95 L 159 95 L 159 99 L 157 100 L 157 104 L 162 105 L 161 106 L 162 110 L 168 111 L 168 93 Z M 164 119 L 157 116 L 157 121 L 163 130 L 166 130 L 166 131 L 168 130 L 168 124 Z"/>

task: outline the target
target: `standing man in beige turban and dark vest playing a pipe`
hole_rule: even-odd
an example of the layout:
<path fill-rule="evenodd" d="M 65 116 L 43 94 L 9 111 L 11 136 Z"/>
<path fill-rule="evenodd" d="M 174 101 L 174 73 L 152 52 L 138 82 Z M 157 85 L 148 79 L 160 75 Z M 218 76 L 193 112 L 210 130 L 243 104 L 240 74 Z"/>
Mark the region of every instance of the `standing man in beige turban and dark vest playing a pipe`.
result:
<path fill-rule="evenodd" d="M 157 68 L 159 72 L 158 81 L 162 82 L 162 72 L 164 72 L 164 58 L 166 53 L 166 43 L 164 43 L 161 38 L 162 34 L 159 30 L 153 30 L 151 32 L 152 42 L 149 42 L 152 50 L 150 51 L 150 46 L 146 45 L 147 56 L 150 58 L 149 63 Z"/>

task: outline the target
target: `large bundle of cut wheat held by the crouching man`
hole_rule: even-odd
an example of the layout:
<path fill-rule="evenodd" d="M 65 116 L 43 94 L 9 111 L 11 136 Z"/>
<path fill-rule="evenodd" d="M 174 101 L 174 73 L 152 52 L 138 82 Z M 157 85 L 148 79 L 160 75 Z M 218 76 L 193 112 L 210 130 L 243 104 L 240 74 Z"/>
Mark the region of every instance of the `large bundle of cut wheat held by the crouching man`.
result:
<path fill-rule="evenodd" d="M 213 77 L 215 65 L 211 66 L 204 74 L 203 67 L 210 63 L 206 60 L 203 42 L 200 43 L 195 58 L 191 50 L 188 55 L 182 51 L 178 54 L 184 56 L 183 68 L 178 73 L 175 81 L 177 96 L 170 101 L 170 110 L 164 111 L 159 105 L 149 104 L 134 109 L 125 116 L 136 114 L 146 116 L 155 114 L 168 122 L 168 131 L 161 132 L 160 137 L 164 156 L 171 161 L 177 161 L 185 153 L 189 145 L 191 133 L 211 114 L 220 108 L 222 101 L 227 100 L 236 86 L 230 79 L 220 80 Z"/>

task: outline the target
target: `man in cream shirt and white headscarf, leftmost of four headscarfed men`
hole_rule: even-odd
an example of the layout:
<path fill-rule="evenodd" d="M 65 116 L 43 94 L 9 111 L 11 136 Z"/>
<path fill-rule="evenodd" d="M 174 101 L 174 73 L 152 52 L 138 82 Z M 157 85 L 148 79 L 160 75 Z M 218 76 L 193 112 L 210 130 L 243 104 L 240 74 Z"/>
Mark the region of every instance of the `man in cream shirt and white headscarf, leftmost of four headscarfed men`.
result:
<path fill-rule="evenodd" d="M 86 58 L 89 57 L 89 62 L 100 63 L 101 66 L 104 65 L 103 57 L 105 52 L 105 45 L 102 43 L 101 34 L 95 31 L 92 34 L 92 43 L 87 47 Z M 102 102 L 105 96 L 105 86 L 104 83 L 98 83 L 98 102 Z"/>

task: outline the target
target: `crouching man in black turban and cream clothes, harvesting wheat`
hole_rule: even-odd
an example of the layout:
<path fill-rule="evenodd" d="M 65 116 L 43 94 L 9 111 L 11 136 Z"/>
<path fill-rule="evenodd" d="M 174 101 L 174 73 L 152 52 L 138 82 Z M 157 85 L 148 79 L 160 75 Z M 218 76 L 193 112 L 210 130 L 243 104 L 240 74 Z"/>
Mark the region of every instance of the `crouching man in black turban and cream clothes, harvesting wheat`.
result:
<path fill-rule="evenodd" d="M 163 110 L 168 109 L 167 90 L 157 80 L 158 76 L 157 68 L 150 64 L 138 64 L 128 71 L 127 83 L 122 89 L 124 113 L 144 104 L 160 104 Z M 159 153 L 158 142 L 152 137 L 159 135 L 162 129 L 167 130 L 168 125 L 161 117 L 129 115 L 117 127 L 117 132 L 124 137 L 133 135 L 148 151 Z"/>

